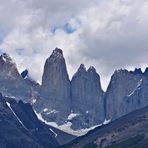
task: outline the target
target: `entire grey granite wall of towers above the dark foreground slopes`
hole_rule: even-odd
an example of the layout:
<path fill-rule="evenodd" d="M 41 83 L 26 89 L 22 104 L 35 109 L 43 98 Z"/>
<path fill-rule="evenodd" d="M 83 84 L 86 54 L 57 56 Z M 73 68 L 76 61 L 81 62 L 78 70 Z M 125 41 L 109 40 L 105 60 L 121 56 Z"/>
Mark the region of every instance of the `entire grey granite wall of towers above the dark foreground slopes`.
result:
<path fill-rule="evenodd" d="M 104 93 L 94 67 L 83 64 L 69 80 L 61 49 L 46 60 L 41 86 L 29 78 L 28 70 L 19 74 L 6 53 L 0 55 L 0 92 L 33 105 L 47 122 L 69 124 L 84 129 L 115 120 L 148 105 L 148 68 L 143 73 L 117 70 Z"/>

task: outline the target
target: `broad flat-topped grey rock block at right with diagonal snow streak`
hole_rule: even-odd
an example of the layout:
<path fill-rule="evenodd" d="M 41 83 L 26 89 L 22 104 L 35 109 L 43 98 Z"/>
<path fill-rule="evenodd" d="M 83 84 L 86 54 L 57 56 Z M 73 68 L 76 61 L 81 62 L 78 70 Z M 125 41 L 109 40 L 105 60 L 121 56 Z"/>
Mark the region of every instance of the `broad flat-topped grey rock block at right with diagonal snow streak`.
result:
<path fill-rule="evenodd" d="M 146 73 L 140 69 L 115 71 L 105 95 L 107 119 L 114 120 L 148 104 Z"/>

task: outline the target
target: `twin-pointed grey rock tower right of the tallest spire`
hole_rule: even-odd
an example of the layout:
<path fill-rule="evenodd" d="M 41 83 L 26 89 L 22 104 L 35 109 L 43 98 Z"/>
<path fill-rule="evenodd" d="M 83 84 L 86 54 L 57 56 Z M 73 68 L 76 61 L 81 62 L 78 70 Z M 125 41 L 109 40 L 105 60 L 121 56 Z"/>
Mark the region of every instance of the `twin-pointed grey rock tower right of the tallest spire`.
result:
<path fill-rule="evenodd" d="M 72 121 L 74 128 L 91 127 L 105 120 L 100 76 L 94 67 L 86 71 L 85 66 L 81 64 L 72 78 L 71 90 L 72 111 L 77 114 Z"/>

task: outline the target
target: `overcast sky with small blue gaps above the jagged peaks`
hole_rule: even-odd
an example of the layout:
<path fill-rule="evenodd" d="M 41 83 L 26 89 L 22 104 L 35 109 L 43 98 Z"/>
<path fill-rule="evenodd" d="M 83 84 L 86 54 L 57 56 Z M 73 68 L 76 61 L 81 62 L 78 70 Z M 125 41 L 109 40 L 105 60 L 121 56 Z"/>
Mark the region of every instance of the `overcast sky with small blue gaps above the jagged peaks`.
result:
<path fill-rule="evenodd" d="M 115 69 L 148 64 L 148 0 L 0 0 L 0 49 L 19 71 L 41 81 L 55 47 L 70 77 L 92 65 L 105 89 Z"/>

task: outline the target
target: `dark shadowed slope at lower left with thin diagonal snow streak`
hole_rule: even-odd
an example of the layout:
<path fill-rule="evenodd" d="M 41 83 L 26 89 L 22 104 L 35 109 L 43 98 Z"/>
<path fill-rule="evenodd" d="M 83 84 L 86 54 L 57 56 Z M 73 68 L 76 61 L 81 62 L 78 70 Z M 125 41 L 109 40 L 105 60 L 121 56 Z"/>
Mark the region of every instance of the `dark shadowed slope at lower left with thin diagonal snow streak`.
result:
<path fill-rule="evenodd" d="M 0 94 L 1 148 L 55 148 L 55 135 L 38 120 L 29 103 Z"/>

